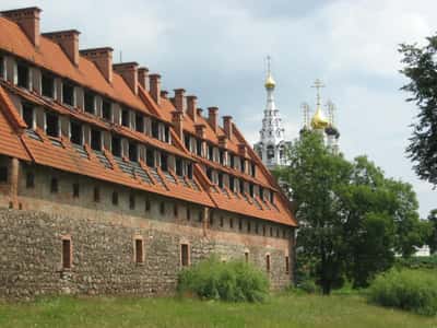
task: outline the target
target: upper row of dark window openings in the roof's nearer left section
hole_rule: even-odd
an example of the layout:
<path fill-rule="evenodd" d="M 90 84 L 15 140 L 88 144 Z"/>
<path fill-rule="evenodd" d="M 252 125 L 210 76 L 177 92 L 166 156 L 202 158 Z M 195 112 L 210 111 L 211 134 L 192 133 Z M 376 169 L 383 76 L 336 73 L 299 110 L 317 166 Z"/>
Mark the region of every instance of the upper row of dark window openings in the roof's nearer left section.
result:
<path fill-rule="evenodd" d="M 152 138 L 170 143 L 169 125 L 146 116 L 138 110 L 126 108 L 107 97 L 83 89 L 55 74 L 31 67 L 22 60 L 0 54 L 0 78 L 15 85 L 34 90 L 40 95 L 57 99 L 63 105 L 80 107 L 85 113 L 95 115 L 106 121 L 115 122 Z"/>

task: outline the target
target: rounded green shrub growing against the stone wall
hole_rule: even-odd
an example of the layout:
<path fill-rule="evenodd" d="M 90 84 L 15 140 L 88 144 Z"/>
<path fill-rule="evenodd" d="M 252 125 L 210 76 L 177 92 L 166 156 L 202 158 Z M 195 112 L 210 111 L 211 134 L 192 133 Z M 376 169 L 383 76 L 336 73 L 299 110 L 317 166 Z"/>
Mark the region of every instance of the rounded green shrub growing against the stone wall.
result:
<path fill-rule="evenodd" d="M 222 262 L 212 256 L 179 273 L 178 292 L 206 300 L 262 302 L 269 294 L 269 280 L 250 263 Z"/>

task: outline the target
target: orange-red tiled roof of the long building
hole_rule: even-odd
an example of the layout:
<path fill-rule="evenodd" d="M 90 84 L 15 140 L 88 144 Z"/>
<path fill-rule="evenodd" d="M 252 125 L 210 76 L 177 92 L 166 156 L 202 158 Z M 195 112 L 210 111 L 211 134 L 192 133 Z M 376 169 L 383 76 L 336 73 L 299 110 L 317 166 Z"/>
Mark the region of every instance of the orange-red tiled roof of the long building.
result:
<path fill-rule="evenodd" d="M 82 56 L 80 57 L 79 66 L 75 67 L 71 63 L 62 49 L 47 37 L 40 37 L 40 45 L 36 49 L 15 23 L 1 16 L 0 32 L 0 50 L 21 57 L 33 62 L 35 66 L 43 67 L 60 77 L 68 78 L 79 85 L 94 90 L 104 96 L 141 110 L 146 115 L 157 117 L 168 124 L 172 122 L 172 112 L 175 110 L 175 107 L 168 99 L 163 98 L 161 104 L 157 105 L 152 99 L 149 92 L 141 86 L 139 87 L 139 94 L 135 95 L 125 80 L 116 72 L 114 72 L 113 83 L 108 83 L 97 67 Z M 39 165 L 86 175 L 165 197 L 187 200 L 206 207 L 218 208 L 225 211 L 260 218 L 286 225 L 297 225 L 288 207 L 288 202 L 286 198 L 281 195 L 281 191 L 277 192 L 280 197 L 276 198 L 275 204 L 272 204 L 247 195 L 235 195 L 226 189 L 224 191 L 218 190 L 216 186 L 211 184 L 198 164 L 193 165 L 194 176 L 192 181 L 189 181 L 187 178 L 179 178 L 174 173 L 168 173 L 166 177 L 161 169 L 152 173 L 143 163 L 139 164 L 140 168 L 134 168 L 134 174 L 130 174 L 126 173 L 126 168 L 125 171 L 122 169 L 120 166 L 122 163 L 117 162 L 119 160 L 116 161 L 111 154 L 105 150 L 103 154 L 98 154 L 99 157 L 97 157 L 97 153 L 92 151 L 88 145 L 85 145 L 83 150 L 78 150 L 69 140 L 49 138 L 38 130 L 36 134 L 32 134 L 35 132 L 25 132 L 25 124 L 17 114 L 19 112 L 11 102 L 8 93 L 16 94 L 49 110 L 55 110 L 60 115 L 73 117 L 78 120 L 97 126 L 101 129 L 113 131 L 114 133 L 145 144 L 151 144 L 175 155 L 233 174 L 236 177 L 245 178 L 264 188 L 280 190 L 269 171 L 251 150 L 236 126 L 234 126 L 233 133 L 229 140 L 227 140 L 227 149 L 238 154 L 238 144 L 246 144 L 248 149 L 246 157 L 256 163 L 258 168 L 256 177 L 188 153 L 182 140 L 178 139 L 173 129 L 170 130 L 173 142 L 169 144 L 145 136 L 144 133 L 105 122 L 96 116 L 80 112 L 76 108 L 69 108 L 57 102 L 48 101 L 34 92 L 24 91 L 5 81 L 0 83 L 1 154 L 15 156 L 25 161 L 33 161 Z M 215 132 L 204 117 L 199 116 L 198 119 L 199 121 L 197 124 L 203 124 L 205 126 L 205 139 L 209 142 L 218 144 L 218 137 L 225 134 L 223 129 L 218 127 Z M 184 129 L 187 132 L 196 134 L 194 122 L 188 115 L 185 115 L 184 118 Z M 126 165 L 129 165 L 129 162 L 126 163 Z M 138 175 L 140 172 L 149 176 L 149 183 Z"/>

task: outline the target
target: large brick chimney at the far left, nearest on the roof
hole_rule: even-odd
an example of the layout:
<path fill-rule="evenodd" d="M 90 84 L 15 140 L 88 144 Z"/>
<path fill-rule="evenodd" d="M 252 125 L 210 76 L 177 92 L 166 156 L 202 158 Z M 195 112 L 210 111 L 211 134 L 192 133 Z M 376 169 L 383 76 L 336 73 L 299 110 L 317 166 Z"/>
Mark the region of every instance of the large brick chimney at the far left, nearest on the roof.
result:
<path fill-rule="evenodd" d="M 37 7 L 7 10 L 0 14 L 16 24 L 24 31 L 35 47 L 39 47 L 39 14 L 42 10 Z"/>

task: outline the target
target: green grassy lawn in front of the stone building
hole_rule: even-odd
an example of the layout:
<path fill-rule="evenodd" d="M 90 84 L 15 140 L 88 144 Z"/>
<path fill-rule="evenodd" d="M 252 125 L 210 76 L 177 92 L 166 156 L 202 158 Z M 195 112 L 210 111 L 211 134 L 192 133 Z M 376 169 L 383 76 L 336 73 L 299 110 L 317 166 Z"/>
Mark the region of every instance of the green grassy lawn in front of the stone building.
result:
<path fill-rule="evenodd" d="M 437 327 L 358 295 L 281 295 L 264 304 L 176 298 L 57 297 L 0 303 L 0 327 Z"/>

